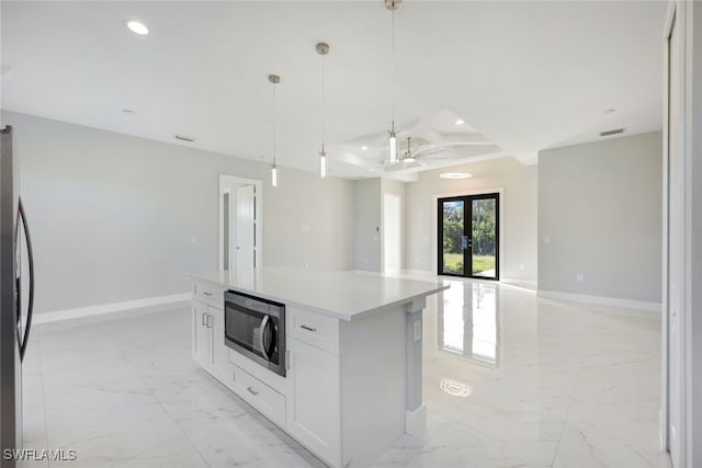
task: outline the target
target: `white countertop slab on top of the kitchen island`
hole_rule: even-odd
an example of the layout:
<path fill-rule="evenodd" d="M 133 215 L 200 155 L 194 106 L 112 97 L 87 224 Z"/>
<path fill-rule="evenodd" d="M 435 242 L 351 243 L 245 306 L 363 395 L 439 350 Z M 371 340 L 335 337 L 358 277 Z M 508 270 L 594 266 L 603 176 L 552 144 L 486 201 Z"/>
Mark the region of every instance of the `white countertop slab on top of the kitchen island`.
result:
<path fill-rule="evenodd" d="M 196 273 L 190 277 L 342 320 L 449 288 L 435 281 L 405 279 L 377 273 L 281 267 Z"/>

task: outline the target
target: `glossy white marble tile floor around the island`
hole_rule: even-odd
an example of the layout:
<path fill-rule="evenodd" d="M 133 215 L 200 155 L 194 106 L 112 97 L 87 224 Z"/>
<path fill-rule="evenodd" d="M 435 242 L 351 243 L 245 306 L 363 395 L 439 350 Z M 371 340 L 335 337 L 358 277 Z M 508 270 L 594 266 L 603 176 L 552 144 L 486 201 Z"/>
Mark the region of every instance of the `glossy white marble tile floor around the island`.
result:
<path fill-rule="evenodd" d="M 427 431 L 376 467 L 669 467 L 660 320 L 444 279 L 424 312 Z M 26 448 L 70 467 L 324 467 L 190 358 L 179 306 L 46 323 L 24 366 Z"/>

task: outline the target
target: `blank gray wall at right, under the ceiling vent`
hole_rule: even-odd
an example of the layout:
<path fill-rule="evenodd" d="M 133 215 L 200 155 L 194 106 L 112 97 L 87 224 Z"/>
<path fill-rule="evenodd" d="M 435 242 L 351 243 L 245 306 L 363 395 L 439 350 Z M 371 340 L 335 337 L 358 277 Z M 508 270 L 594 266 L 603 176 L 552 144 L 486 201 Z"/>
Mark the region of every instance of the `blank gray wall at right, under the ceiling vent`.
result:
<path fill-rule="evenodd" d="M 539 289 L 659 303 L 661 168 L 660 132 L 541 151 Z"/>

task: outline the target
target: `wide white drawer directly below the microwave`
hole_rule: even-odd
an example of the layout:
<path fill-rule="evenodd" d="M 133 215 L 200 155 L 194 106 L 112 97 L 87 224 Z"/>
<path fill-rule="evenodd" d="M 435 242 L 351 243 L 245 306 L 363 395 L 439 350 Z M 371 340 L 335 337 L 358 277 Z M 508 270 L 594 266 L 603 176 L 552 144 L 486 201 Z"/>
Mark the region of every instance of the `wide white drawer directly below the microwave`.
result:
<path fill-rule="evenodd" d="M 281 427 L 285 427 L 285 397 L 241 367 L 229 364 L 230 388 L 247 403 Z"/>

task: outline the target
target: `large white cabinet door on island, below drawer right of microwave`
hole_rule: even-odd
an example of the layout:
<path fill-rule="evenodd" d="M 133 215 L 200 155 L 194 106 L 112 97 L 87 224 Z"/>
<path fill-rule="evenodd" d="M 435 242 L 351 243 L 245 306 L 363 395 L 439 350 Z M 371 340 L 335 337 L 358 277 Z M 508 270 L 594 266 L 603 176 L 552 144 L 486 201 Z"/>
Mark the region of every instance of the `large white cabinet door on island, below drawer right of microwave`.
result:
<path fill-rule="evenodd" d="M 339 356 L 292 338 L 287 346 L 287 431 L 331 466 L 340 466 Z"/>

